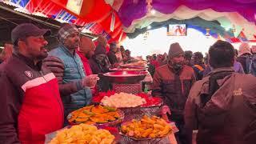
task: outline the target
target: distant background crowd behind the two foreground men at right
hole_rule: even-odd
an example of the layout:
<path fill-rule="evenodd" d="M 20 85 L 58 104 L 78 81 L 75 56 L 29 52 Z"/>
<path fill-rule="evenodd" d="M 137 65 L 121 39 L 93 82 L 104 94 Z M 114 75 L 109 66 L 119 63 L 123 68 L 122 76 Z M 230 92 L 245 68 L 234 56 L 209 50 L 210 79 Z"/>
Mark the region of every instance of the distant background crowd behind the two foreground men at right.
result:
<path fill-rule="evenodd" d="M 239 50 L 234 49 L 234 71 L 240 74 L 253 74 L 256 76 L 256 46 L 250 46 L 244 42 Z M 201 52 L 193 53 L 190 50 L 184 51 L 184 64 L 194 70 L 196 80 L 202 80 L 213 68 L 208 63 L 209 54 L 204 57 Z M 154 71 L 159 66 L 167 64 L 167 54 L 152 54 L 146 56 L 149 72 L 154 76 Z"/>

